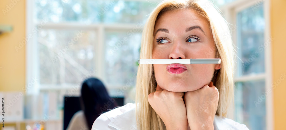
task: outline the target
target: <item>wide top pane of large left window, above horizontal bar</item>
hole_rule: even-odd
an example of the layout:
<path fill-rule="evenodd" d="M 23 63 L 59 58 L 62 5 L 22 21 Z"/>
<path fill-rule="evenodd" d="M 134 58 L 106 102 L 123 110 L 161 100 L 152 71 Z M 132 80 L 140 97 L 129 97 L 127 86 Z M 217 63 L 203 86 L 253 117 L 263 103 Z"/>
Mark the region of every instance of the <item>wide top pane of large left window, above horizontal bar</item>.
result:
<path fill-rule="evenodd" d="M 36 0 L 36 20 L 50 22 L 145 23 L 157 3 L 122 0 Z"/>

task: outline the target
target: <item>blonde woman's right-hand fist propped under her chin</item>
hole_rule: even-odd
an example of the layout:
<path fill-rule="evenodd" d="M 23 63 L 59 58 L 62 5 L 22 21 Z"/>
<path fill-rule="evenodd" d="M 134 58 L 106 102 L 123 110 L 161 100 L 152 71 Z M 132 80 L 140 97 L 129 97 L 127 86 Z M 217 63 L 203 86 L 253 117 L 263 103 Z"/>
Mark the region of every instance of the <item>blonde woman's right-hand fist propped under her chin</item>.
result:
<path fill-rule="evenodd" d="M 191 130 L 214 129 L 213 121 L 219 103 L 219 91 L 212 82 L 198 90 L 185 92 L 184 102 Z"/>

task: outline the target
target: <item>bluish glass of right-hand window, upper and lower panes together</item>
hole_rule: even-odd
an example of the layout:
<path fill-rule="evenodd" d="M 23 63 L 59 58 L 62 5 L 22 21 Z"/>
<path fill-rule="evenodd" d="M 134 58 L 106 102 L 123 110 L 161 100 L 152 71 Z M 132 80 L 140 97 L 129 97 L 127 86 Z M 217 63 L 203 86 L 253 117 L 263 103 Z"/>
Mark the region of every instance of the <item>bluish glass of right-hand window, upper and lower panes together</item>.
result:
<path fill-rule="evenodd" d="M 237 78 L 265 74 L 263 5 L 256 9 L 243 9 L 237 13 L 238 62 Z M 236 119 L 245 123 L 249 129 L 266 129 L 265 77 L 236 82 L 235 95 L 242 99 L 236 103 Z M 260 100 L 258 97 L 262 99 Z"/>

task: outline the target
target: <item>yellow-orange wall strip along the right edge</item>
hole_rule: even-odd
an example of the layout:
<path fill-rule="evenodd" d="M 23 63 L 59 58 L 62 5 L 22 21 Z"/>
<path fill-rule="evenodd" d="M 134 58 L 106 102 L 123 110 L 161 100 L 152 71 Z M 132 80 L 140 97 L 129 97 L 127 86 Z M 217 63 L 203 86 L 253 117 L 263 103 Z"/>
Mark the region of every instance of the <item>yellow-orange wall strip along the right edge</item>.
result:
<path fill-rule="evenodd" d="M 271 0 L 270 28 L 272 41 L 273 82 L 281 74 L 286 74 L 286 1 Z M 278 81 L 279 82 L 279 81 Z M 282 80 L 273 92 L 275 130 L 286 128 L 286 79 Z"/>

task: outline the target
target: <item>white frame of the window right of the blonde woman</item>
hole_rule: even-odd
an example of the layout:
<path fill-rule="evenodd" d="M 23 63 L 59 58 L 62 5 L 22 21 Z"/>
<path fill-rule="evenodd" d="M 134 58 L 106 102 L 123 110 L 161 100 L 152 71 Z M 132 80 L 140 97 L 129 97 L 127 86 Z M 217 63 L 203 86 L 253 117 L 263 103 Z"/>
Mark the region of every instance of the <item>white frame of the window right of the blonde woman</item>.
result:
<path fill-rule="evenodd" d="M 235 0 L 229 4 L 226 4 L 219 9 L 224 12 L 225 19 L 232 25 L 237 25 L 236 16 L 239 11 L 247 9 L 251 6 L 255 7 L 255 4 L 263 2 L 263 14 L 265 19 L 265 30 L 264 30 L 264 42 L 269 41 L 271 38 L 270 34 L 270 1 L 269 0 Z M 236 30 L 232 32 L 232 40 L 235 46 L 237 46 L 237 34 Z M 265 73 L 255 74 L 255 75 L 245 75 L 241 77 L 235 77 L 234 82 L 245 82 L 245 81 L 254 81 L 254 80 L 265 80 L 265 90 L 271 89 L 272 83 L 272 65 L 271 65 L 271 43 L 268 43 L 268 46 L 264 51 L 265 56 Z M 240 62 L 238 60 L 238 62 Z M 237 64 L 235 64 L 237 66 Z M 236 72 L 235 72 L 236 73 Z M 273 121 L 273 90 L 266 96 L 266 129 L 274 129 Z M 229 114 L 229 118 L 234 118 L 234 106 L 231 107 L 233 112 Z"/>

